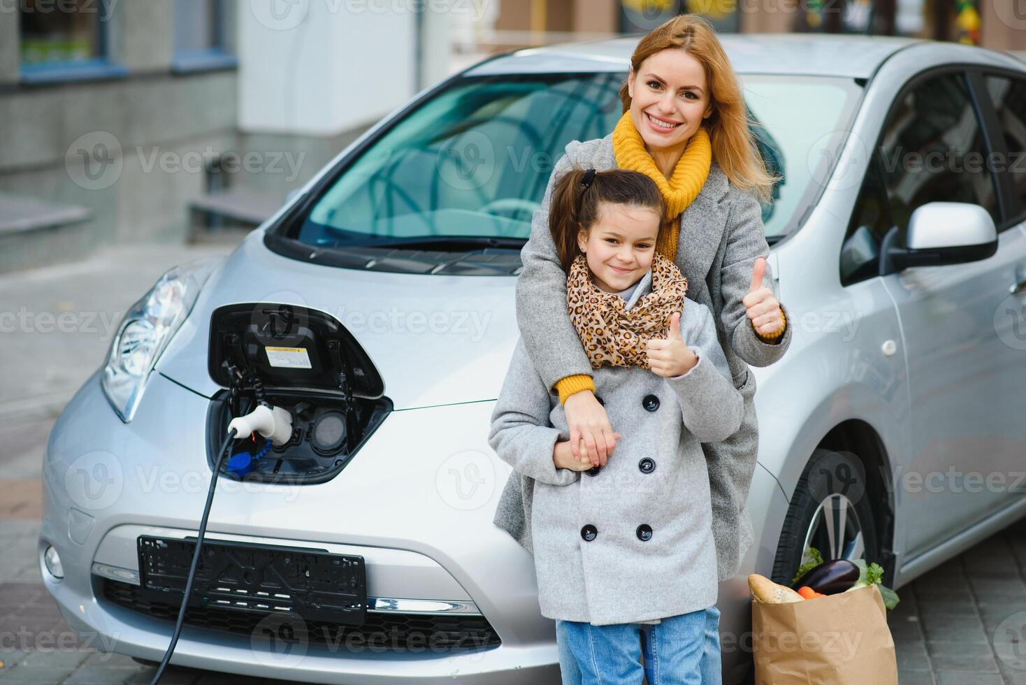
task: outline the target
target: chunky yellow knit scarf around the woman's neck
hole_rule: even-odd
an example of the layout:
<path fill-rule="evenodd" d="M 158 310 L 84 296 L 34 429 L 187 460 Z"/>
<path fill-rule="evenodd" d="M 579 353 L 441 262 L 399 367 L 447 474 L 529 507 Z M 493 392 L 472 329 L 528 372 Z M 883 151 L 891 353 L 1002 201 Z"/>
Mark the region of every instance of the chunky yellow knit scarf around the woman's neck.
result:
<path fill-rule="evenodd" d="M 677 256 L 677 236 L 679 235 L 680 212 L 687 208 L 687 205 L 698 197 L 709 177 L 709 168 L 712 166 L 712 144 L 709 140 L 709 131 L 705 126 L 699 126 L 684 149 L 684 154 L 673 168 L 673 175 L 667 178 L 656 166 L 656 160 L 652 158 L 644 148 L 644 140 L 641 134 L 634 127 L 634 120 L 631 119 L 630 110 L 624 112 L 617 122 L 617 127 L 613 129 L 613 154 L 617 159 L 617 166 L 621 169 L 640 171 L 656 182 L 663 199 L 666 200 L 665 223 L 661 227 L 659 237 L 656 240 L 656 250 L 666 255 L 671 260 Z"/>

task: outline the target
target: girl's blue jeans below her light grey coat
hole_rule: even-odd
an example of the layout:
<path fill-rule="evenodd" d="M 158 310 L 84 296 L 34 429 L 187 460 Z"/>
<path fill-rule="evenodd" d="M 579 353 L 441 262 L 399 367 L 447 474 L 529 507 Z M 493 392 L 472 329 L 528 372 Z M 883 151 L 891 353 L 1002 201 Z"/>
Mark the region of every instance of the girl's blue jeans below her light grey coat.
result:
<path fill-rule="evenodd" d="M 557 620 L 556 644 L 563 685 L 641 683 L 642 673 L 647 685 L 722 683 L 715 606 L 656 624 Z"/>

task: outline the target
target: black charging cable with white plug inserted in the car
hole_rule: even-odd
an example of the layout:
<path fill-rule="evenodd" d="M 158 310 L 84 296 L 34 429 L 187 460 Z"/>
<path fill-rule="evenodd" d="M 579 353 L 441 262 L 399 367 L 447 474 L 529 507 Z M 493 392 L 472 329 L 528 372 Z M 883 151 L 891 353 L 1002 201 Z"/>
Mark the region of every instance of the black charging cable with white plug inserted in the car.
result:
<path fill-rule="evenodd" d="M 241 430 L 240 430 L 241 429 Z M 218 450 L 218 461 L 213 465 L 213 474 L 210 476 L 210 488 L 206 492 L 206 505 L 203 507 L 203 517 L 199 522 L 199 532 L 196 535 L 196 550 L 193 552 L 192 566 L 189 567 L 189 577 L 186 580 L 186 591 L 182 597 L 182 607 L 179 609 L 179 618 L 174 621 L 174 633 L 171 635 L 171 643 L 164 652 L 164 658 L 157 667 L 150 685 L 157 685 L 160 677 L 164 674 L 164 669 L 171 660 L 174 653 L 174 646 L 179 643 L 179 636 L 182 634 L 182 621 L 186 617 L 186 607 L 189 605 L 189 595 L 192 593 L 193 579 L 196 577 L 196 567 L 199 565 L 200 548 L 203 547 L 203 535 L 206 533 L 206 520 L 210 516 L 210 505 L 213 502 L 213 489 L 218 485 L 218 474 L 221 473 L 221 465 L 228 455 L 232 439 L 247 438 L 252 433 L 260 433 L 269 442 L 275 445 L 283 445 L 292 437 L 292 415 L 281 407 L 272 407 L 261 404 L 245 416 L 233 418 L 228 425 L 228 436 Z"/>

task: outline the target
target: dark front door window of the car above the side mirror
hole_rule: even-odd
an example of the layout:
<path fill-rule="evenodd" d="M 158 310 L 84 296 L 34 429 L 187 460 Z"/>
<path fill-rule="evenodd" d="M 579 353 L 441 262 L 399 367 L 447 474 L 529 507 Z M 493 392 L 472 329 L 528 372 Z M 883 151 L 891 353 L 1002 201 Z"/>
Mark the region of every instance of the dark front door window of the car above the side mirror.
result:
<path fill-rule="evenodd" d="M 875 152 L 902 239 L 928 202 L 979 204 L 1000 221 L 982 130 L 962 73 L 922 81 L 897 103 Z"/>

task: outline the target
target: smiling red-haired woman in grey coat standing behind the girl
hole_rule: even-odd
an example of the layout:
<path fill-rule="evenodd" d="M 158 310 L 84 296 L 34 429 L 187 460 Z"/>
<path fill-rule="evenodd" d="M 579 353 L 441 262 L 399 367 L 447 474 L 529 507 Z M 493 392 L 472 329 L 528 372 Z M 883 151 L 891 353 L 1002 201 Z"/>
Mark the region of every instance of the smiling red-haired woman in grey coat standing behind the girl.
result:
<path fill-rule="evenodd" d="M 549 233 L 554 182 L 574 166 L 626 168 L 652 177 L 667 204 L 668 230 L 657 250 L 686 276 L 687 297 L 709 307 L 735 386 L 744 398 L 741 428 L 718 443 L 703 443 L 712 499 L 719 580 L 732 577 L 752 542 L 748 489 L 758 430 L 748 365 L 768 366 L 787 351 L 786 310 L 763 285 L 772 274 L 759 199 L 774 182 L 748 128 L 737 75 L 715 32 L 701 17 L 676 16 L 644 36 L 621 89 L 624 115 L 603 138 L 571 142 L 549 178 L 530 239 L 521 250 L 517 324 L 535 368 L 566 414 L 574 455 L 581 443 L 596 466 L 613 456 L 616 427 L 595 399 L 591 366 L 561 297 L 566 274 Z M 759 258 L 763 257 L 763 258 Z M 640 401 L 640 398 L 639 398 Z M 615 458 L 615 457 L 614 457 Z M 534 483 L 513 475 L 495 523 L 532 551 Z M 718 677 L 718 610 L 710 608 L 704 673 Z"/>

